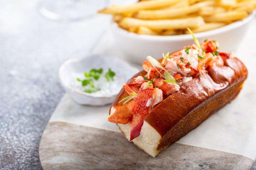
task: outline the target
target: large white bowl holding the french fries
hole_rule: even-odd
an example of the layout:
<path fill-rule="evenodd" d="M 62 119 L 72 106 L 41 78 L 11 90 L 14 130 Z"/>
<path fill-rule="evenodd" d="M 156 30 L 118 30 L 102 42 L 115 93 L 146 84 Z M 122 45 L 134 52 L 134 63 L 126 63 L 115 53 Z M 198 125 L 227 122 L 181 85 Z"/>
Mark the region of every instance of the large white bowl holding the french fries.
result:
<path fill-rule="evenodd" d="M 250 21 L 255 17 L 256 11 L 242 21 L 220 27 L 218 29 L 195 33 L 200 43 L 205 39 L 219 42 L 220 51 L 231 52 L 237 48 L 244 37 Z M 142 63 L 146 56 L 156 59 L 162 57 L 162 53 L 174 52 L 184 46 L 194 44 L 191 34 L 174 36 L 151 36 L 128 32 L 120 28 L 116 23 L 112 24 L 112 30 L 116 44 L 124 56 L 135 63 Z"/>

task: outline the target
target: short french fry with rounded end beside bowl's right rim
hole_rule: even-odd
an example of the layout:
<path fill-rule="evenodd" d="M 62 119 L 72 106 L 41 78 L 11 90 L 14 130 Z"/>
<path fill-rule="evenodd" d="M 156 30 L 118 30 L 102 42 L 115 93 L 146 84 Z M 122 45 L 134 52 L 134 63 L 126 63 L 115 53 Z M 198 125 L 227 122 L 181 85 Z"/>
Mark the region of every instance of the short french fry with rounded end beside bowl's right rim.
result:
<path fill-rule="evenodd" d="M 228 11 L 204 17 L 204 20 L 205 22 L 230 23 L 232 21 L 242 20 L 246 17 L 248 17 L 248 13 L 246 11 Z"/>

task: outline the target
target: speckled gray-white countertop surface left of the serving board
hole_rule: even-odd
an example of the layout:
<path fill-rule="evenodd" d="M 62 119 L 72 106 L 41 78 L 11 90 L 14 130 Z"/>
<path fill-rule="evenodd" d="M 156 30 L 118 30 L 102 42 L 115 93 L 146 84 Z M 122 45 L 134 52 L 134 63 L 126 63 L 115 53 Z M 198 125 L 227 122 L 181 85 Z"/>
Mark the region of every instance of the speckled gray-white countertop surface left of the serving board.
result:
<path fill-rule="evenodd" d="M 0 169 L 42 169 L 40 139 L 65 93 L 58 69 L 88 55 L 110 24 L 103 15 L 50 20 L 38 3 L 0 2 Z"/>

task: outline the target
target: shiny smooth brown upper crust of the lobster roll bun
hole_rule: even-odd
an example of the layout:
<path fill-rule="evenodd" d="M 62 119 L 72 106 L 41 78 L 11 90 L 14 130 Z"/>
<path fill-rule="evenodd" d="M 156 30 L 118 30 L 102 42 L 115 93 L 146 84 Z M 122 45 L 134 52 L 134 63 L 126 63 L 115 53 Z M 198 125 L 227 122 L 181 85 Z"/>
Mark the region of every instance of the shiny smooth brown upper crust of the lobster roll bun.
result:
<path fill-rule="evenodd" d="M 215 94 L 235 83 L 244 81 L 247 74 L 246 67 L 239 59 L 229 58 L 223 67 L 213 67 L 208 74 L 199 75 L 184 84 L 178 92 L 168 96 L 153 109 L 144 120 L 163 136 L 201 103 L 205 104 L 206 100 L 207 102 L 215 100 L 213 99 Z M 226 100 L 221 103 L 225 105 L 230 101 Z M 217 107 L 217 102 L 215 101 L 212 107 Z"/>

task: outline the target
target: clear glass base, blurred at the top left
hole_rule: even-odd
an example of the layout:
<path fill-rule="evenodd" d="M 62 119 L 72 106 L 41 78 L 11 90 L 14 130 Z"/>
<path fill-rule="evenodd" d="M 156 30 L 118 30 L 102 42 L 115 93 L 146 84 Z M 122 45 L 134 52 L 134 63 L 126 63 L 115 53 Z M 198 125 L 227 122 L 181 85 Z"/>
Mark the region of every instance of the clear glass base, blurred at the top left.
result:
<path fill-rule="evenodd" d="M 53 20 L 81 20 L 104 8 L 108 0 L 41 0 L 39 12 Z"/>

